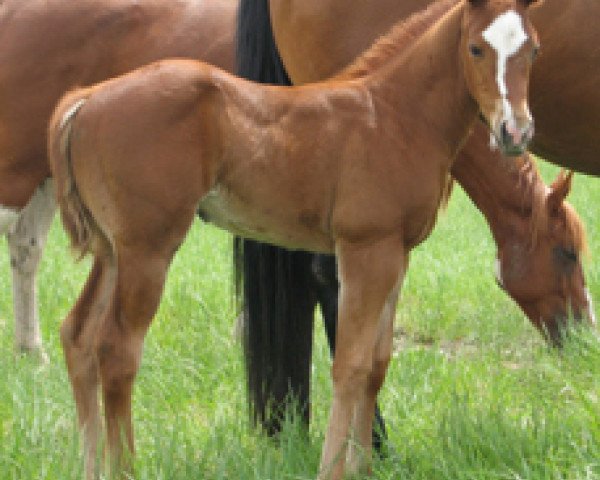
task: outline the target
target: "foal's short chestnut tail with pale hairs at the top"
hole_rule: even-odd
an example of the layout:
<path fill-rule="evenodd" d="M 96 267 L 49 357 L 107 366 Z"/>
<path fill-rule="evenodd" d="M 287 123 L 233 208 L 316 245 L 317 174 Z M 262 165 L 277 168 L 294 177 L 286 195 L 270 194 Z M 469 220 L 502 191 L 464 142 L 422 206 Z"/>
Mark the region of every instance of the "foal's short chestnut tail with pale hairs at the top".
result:
<path fill-rule="evenodd" d="M 71 239 L 71 247 L 79 254 L 79 258 L 90 252 L 97 230 L 77 189 L 71 162 L 73 122 L 88 96 L 87 89 L 66 94 L 54 110 L 48 128 L 48 155 L 56 184 L 57 202 L 63 225 Z"/>

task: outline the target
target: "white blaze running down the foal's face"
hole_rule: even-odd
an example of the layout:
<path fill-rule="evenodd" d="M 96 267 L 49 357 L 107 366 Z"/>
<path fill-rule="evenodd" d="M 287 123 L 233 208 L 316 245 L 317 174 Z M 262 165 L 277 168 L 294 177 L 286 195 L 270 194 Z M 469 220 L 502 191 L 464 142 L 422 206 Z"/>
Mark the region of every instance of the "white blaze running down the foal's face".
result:
<path fill-rule="evenodd" d="M 502 99 L 504 120 L 515 122 L 513 109 L 508 101 L 506 63 L 511 56 L 519 51 L 528 38 L 523 28 L 521 17 L 514 10 L 504 12 L 496 17 L 496 19 L 483 31 L 482 36 L 496 51 L 498 57 L 496 82 Z"/>

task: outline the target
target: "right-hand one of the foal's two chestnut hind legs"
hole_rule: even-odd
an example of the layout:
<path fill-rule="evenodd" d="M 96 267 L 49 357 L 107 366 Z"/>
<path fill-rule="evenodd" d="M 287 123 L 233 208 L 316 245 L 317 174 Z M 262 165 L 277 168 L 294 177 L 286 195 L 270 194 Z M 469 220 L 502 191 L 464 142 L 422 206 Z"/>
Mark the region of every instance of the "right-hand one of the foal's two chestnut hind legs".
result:
<path fill-rule="evenodd" d="M 116 288 L 95 347 L 111 473 L 120 475 L 121 471 L 131 471 L 133 382 L 141 361 L 144 336 L 159 305 L 171 255 L 144 248 L 117 247 L 116 250 Z"/>

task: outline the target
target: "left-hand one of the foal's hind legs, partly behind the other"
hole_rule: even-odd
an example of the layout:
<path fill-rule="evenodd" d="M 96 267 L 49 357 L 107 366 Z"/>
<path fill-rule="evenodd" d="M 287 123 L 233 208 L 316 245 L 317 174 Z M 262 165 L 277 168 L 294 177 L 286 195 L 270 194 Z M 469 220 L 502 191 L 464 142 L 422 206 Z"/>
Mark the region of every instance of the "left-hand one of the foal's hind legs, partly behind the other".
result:
<path fill-rule="evenodd" d="M 98 364 L 94 345 L 99 324 L 111 298 L 114 279 L 114 266 L 95 259 L 83 292 L 60 329 L 79 426 L 83 433 L 88 480 L 97 476 L 96 456 L 100 433 Z"/>

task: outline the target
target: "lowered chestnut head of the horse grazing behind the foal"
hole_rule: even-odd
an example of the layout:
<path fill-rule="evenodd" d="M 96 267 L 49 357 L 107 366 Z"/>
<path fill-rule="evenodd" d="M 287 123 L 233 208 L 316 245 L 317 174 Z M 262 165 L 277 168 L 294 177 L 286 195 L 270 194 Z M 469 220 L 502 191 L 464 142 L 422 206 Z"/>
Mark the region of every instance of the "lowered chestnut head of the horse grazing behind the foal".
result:
<path fill-rule="evenodd" d="M 581 266 L 583 224 L 564 201 L 570 188 L 571 174 L 561 173 L 527 217 L 533 221 L 511 222 L 513 230 L 499 247 L 496 269 L 499 285 L 557 346 L 570 320 L 596 323 Z"/>

